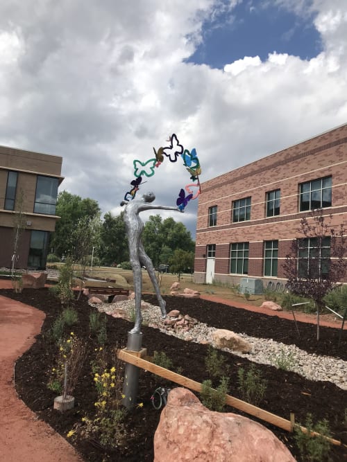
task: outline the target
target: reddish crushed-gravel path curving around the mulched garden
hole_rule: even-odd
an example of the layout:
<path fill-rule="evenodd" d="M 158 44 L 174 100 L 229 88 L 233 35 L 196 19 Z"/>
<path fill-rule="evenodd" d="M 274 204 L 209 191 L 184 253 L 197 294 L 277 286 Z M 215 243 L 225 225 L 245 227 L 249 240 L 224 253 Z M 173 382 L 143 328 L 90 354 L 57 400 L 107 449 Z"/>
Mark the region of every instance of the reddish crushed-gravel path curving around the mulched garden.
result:
<path fill-rule="evenodd" d="M 0 288 L 11 287 L 10 281 L 0 280 Z M 214 295 L 204 295 L 201 298 L 269 316 L 293 319 L 289 312 L 272 312 L 244 303 L 226 301 Z M 315 317 L 308 314 L 296 314 L 296 319 L 315 323 Z M 44 313 L 40 310 L 0 296 L 0 461 L 82 461 L 64 438 L 54 432 L 49 425 L 37 420 L 35 414 L 24 405 L 22 400 L 19 400 L 14 388 L 15 361 L 33 344 L 43 321 Z M 322 319 L 321 325 L 339 328 L 341 322 Z"/>

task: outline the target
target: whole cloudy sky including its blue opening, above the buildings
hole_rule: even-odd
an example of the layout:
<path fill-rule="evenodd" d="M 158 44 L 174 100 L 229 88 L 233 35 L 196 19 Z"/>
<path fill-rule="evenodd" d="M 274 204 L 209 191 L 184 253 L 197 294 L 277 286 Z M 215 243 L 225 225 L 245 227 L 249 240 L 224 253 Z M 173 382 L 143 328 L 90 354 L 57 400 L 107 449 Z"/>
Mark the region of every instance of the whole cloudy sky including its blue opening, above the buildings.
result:
<path fill-rule="evenodd" d="M 346 123 L 346 100 L 346 0 L 0 2 L 0 144 L 62 156 L 60 190 L 103 213 L 173 133 L 203 182 Z M 191 182 L 168 157 L 144 181 L 167 205 Z M 194 236 L 197 202 L 162 217 Z"/>

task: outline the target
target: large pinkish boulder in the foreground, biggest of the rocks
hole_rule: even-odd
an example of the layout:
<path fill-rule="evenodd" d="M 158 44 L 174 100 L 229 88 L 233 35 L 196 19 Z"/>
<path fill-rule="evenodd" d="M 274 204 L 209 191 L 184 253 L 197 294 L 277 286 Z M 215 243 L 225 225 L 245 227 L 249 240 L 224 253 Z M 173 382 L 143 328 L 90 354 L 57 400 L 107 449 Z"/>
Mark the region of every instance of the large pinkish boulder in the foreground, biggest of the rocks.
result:
<path fill-rule="evenodd" d="M 295 462 L 259 423 L 213 412 L 183 388 L 170 391 L 154 436 L 154 462 Z"/>

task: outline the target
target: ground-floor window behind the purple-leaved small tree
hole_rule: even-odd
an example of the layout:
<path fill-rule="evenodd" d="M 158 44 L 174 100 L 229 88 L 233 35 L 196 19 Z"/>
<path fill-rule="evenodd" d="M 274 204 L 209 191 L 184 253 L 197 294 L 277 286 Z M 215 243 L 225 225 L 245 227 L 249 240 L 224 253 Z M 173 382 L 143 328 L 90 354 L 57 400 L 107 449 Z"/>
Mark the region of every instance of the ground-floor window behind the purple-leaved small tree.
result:
<path fill-rule="evenodd" d="M 299 278 L 326 279 L 330 269 L 330 236 L 298 240 Z"/>

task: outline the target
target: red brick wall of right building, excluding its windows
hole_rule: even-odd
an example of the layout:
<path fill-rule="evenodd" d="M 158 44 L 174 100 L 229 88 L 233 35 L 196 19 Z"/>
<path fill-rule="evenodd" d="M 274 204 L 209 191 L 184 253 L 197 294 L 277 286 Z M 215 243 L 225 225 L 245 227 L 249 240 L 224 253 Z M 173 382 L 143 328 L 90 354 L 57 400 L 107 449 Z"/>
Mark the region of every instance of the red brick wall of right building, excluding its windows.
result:
<path fill-rule="evenodd" d="M 249 242 L 248 275 L 264 274 L 264 240 L 279 240 L 278 278 L 291 240 L 300 237 L 299 184 L 332 177 L 331 225 L 347 227 L 347 125 L 201 184 L 196 229 L 196 280 L 204 278 L 206 246 L 216 244 L 215 277 L 229 278 L 230 243 Z M 266 217 L 266 193 L 280 189 L 280 215 Z M 251 196 L 251 220 L 232 223 L 232 201 Z M 217 226 L 208 209 L 217 205 Z M 202 281 L 201 281 L 202 282 Z"/>

